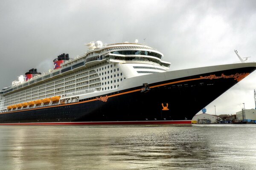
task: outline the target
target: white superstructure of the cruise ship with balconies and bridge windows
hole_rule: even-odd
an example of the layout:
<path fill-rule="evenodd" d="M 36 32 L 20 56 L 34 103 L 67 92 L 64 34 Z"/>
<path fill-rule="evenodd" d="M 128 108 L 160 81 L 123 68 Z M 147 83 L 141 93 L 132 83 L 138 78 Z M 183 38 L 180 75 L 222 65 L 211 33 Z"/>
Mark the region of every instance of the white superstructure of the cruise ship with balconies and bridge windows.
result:
<path fill-rule="evenodd" d="M 0 91 L 0 111 L 53 96 L 75 102 L 99 92 L 116 91 L 124 79 L 165 72 L 170 66 L 161 60 L 162 53 L 143 44 L 124 42 L 103 46 L 96 41 L 87 46 L 87 53 L 61 64 L 59 69 L 28 81 L 20 76 L 19 81 Z M 12 108 L 18 109 L 22 108 Z"/>

